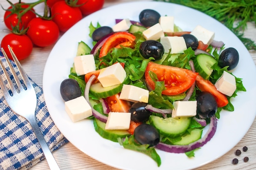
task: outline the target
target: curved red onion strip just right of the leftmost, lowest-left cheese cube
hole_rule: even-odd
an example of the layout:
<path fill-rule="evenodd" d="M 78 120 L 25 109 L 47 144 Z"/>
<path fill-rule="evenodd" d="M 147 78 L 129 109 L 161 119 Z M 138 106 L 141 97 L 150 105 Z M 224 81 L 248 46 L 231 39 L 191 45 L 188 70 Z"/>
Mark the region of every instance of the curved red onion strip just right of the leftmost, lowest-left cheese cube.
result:
<path fill-rule="evenodd" d="M 90 104 L 90 101 L 89 101 L 89 91 L 90 91 L 90 87 L 92 85 L 92 81 L 94 81 L 94 79 L 96 78 L 96 76 L 92 75 L 88 82 L 86 83 L 86 86 L 85 86 L 85 92 L 84 92 L 84 96 L 85 96 L 85 100 Z M 92 105 L 90 104 L 90 106 L 92 107 Z M 108 120 L 108 117 L 107 116 L 104 116 L 103 114 L 99 113 L 97 110 L 95 110 L 93 107 L 92 107 L 92 115 L 96 118 L 96 119 L 99 119 L 100 121 L 106 123 L 107 120 Z"/>

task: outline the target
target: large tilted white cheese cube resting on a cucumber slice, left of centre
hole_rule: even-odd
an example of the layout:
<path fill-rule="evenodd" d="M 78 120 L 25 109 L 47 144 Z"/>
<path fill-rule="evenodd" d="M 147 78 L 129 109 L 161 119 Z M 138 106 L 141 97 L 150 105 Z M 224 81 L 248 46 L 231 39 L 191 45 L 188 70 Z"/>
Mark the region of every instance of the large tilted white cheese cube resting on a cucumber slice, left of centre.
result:
<path fill-rule="evenodd" d="M 103 87 L 118 85 L 124 82 L 126 72 L 120 63 L 101 69 L 98 80 Z"/>

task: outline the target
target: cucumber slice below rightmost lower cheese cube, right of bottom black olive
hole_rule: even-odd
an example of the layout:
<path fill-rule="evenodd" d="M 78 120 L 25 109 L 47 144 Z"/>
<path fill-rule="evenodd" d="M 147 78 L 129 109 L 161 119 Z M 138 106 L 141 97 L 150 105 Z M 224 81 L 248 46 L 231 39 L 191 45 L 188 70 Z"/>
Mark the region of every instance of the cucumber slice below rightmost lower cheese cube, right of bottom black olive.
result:
<path fill-rule="evenodd" d="M 160 134 L 169 137 L 175 137 L 184 133 L 190 125 L 191 118 L 161 118 L 158 116 L 150 116 L 149 122 L 153 125 Z"/>

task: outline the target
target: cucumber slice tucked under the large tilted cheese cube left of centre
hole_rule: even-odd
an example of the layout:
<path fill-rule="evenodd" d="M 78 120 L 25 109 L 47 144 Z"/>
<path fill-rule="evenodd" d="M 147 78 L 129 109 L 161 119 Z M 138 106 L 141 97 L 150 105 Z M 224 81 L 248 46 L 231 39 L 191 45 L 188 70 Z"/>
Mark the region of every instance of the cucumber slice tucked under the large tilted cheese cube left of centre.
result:
<path fill-rule="evenodd" d="M 103 87 L 101 83 L 95 83 L 91 85 L 90 92 L 91 94 L 93 94 L 98 98 L 106 98 L 121 92 L 122 88 L 123 88 L 122 83 L 119 85 L 112 85 L 109 87 Z"/>

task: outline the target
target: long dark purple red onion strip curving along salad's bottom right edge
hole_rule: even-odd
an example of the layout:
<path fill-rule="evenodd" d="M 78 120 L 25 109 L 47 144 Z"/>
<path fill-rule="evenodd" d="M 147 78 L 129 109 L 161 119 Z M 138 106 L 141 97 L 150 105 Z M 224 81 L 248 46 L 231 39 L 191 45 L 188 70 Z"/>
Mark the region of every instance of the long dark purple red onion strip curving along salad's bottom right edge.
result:
<path fill-rule="evenodd" d="M 191 150 L 194 150 L 196 148 L 200 148 L 203 145 L 205 145 L 208 141 L 211 140 L 213 135 L 215 134 L 217 129 L 217 119 L 216 116 L 211 117 L 211 122 L 209 124 L 209 129 L 204 135 L 202 139 L 199 139 L 198 141 L 195 141 L 193 143 L 190 143 L 189 145 L 167 145 L 165 143 L 158 143 L 155 148 L 159 150 L 163 150 L 165 152 L 171 152 L 171 153 L 185 153 L 189 152 Z"/>

